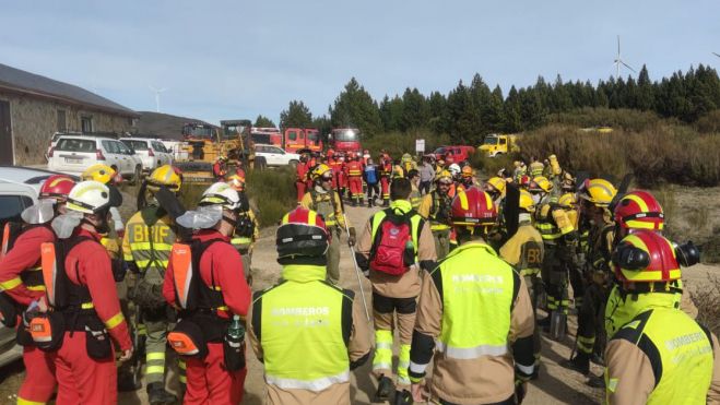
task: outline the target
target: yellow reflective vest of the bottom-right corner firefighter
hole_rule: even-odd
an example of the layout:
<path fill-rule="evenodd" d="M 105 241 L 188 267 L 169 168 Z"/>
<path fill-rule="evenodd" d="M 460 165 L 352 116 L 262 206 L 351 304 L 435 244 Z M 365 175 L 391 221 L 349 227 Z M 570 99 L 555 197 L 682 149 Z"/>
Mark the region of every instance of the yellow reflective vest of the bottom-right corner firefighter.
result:
<path fill-rule="evenodd" d="M 656 378 L 648 404 L 705 404 L 713 368 L 710 332 L 684 312 L 654 308 L 641 312 L 613 340 L 638 346 L 650 360 Z M 606 371 L 607 391 L 617 384 Z"/>

